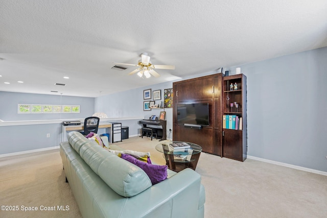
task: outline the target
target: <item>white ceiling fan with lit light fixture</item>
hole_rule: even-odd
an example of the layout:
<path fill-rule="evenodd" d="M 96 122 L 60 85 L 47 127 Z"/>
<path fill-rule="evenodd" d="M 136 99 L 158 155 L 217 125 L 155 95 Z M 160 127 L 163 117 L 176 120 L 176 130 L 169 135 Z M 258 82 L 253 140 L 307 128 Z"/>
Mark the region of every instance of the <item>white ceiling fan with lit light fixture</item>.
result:
<path fill-rule="evenodd" d="M 129 66 L 137 66 L 137 69 L 131 71 L 128 75 L 136 74 L 137 76 L 143 78 L 149 78 L 152 76 L 160 77 L 160 75 L 154 69 L 175 69 L 173 65 L 153 65 L 150 61 L 150 56 L 147 53 L 142 53 L 141 60 L 138 61 L 138 64 L 126 64 L 126 63 L 114 63 L 114 64 L 122 64 L 122 65 L 129 65 Z M 151 74 L 151 75 L 150 75 Z"/>

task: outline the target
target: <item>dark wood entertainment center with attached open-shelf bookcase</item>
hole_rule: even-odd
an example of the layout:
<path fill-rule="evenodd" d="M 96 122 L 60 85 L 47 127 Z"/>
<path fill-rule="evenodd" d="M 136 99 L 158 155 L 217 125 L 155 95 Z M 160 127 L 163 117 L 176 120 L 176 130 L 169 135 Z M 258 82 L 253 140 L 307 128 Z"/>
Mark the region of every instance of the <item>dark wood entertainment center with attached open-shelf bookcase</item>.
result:
<path fill-rule="evenodd" d="M 230 83 L 237 84 L 230 90 Z M 243 74 L 222 77 L 214 74 L 173 83 L 173 140 L 199 144 L 202 151 L 239 161 L 246 159 L 246 76 Z M 238 109 L 230 107 L 237 102 Z M 201 129 L 185 128 L 178 123 L 177 105 L 208 103 L 209 126 Z M 234 111 L 232 111 L 234 109 Z M 241 130 L 223 128 L 223 115 L 242 117 Z"/>

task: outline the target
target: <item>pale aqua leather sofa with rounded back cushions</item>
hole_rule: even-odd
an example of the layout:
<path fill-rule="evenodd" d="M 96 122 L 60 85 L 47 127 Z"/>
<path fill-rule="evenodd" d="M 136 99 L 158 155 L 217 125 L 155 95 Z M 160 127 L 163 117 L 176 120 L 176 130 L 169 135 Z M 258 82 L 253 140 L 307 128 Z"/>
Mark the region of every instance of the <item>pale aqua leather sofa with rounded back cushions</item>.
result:
<path fill-rule="evenodd" d="M 152 185 L 143 169 L 79 132 L 68 133 L 60 155 L 83 217 L 204 217 L 201 176 L 190 168 L 167 169 L 168 179 Z"/>

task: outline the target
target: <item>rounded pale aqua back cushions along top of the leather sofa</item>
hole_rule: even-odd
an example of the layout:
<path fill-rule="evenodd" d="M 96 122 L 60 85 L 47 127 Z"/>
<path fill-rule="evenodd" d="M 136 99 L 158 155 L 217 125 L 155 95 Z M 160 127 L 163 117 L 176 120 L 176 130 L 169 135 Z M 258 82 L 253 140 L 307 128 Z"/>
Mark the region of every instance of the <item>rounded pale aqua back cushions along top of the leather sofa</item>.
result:
<path fill-rule="evenodd" d="M 78 132 L 68 133 L 70 137 L 82 138 Z M 77 139 L 74 139 L 74 141 Z M 87 139 L 88 140 L 88 139 Z M 81 146 L 79 146 L 79 142 Z M 152 186 L 148 175 L 139 167 L 111 154 L 93 141 L 77 140 L 75 146 L 81 158 L 112 190 L 123 197 L 133 197 Z"/>

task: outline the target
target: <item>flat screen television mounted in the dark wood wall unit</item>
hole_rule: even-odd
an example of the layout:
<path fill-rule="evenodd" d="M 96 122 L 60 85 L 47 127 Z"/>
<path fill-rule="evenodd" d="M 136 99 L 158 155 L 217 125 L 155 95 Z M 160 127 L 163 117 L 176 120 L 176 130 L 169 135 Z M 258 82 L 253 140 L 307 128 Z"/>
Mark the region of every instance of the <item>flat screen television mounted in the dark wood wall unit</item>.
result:
<path fill-rule="evenodd" d="M 179 124 L 209 126 L 209 104 L 178 104 L 177 121 Z"/>

